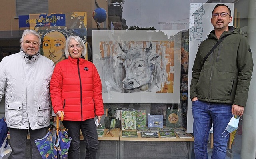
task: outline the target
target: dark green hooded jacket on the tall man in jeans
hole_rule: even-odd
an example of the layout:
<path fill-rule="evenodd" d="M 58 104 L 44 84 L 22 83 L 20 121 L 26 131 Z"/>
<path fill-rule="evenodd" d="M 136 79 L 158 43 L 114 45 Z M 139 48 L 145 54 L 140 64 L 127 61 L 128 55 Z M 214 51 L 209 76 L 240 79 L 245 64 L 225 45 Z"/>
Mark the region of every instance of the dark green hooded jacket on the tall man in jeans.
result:
<path fill-rule="evenodd" d="M 240 34 L 240 28 L 229 26 L 229 31 L 224 31 L 220 38 L 228 36 L 202 66 L 204 57 L 218 42 L 214 33 L 211 31 L 198 48 L 192 68 L 190 98 L 245 107 L 253 69 L 248 41 Z"/>

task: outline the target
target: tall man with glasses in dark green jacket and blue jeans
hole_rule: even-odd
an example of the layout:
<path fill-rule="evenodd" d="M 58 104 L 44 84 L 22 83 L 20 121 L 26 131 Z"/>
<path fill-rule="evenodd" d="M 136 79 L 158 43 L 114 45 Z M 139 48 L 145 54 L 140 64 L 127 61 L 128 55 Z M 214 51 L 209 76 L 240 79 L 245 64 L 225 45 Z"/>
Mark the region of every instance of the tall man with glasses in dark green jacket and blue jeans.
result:
<path fill-rule="evenodd" d="M 228 135 L 222 137 L 232 115 L 242 116 L 252 76 L 252 52 L 239 28 L 228 26 L 231 10 L 218 4 L 212 11 L 214 30 L 204 40 L 192 68 L 190 98 L 194 118 L 193 133 L 196 159 L 207 159 L 207 140 L 213 123 L 212 159 L 225 159 Z M 225 39 L 204 58 L 213 46 Z"/>

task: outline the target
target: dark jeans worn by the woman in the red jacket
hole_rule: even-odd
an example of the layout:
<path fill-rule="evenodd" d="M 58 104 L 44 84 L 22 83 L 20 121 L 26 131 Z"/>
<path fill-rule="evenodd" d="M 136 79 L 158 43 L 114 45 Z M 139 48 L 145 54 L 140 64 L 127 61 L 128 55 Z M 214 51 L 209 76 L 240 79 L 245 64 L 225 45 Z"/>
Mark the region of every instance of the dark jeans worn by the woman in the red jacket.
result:
<path fill-rule="evenodd" d="M 62 121 L 63 126 L 68 129 L 68 136 L 72 137 L 68 150 L 68 159 L 79 159 L 80 157 L 80 129 L 84 136 L 86 146 L 86 159 L 96 159 L 98 150 L 98 134 L 94 119 L 85 121 Z"/>

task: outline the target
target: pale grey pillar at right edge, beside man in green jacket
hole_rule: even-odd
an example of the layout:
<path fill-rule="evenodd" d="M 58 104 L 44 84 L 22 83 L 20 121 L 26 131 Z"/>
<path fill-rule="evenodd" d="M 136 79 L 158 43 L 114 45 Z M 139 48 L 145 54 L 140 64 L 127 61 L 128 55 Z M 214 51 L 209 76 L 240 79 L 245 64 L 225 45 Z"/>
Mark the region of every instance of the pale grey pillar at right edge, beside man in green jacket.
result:
<path fill-rule="evenodd" d="M 246 9 L 246 8 L 244 8 Z M 254 159 L 256 150 L 256 0 L 249 0 L 248 41 L 254 68 L 248 100 L 243 115 L 241 159 Z"/>

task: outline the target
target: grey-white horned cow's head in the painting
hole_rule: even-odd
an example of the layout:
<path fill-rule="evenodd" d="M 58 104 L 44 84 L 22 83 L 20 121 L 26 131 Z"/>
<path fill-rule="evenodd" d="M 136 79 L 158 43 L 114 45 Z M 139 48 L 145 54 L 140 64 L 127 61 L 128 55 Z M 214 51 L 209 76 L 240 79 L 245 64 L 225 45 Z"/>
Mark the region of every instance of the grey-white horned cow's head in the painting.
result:
<path fill-rule="evenodd" d="M 159 65 L 160 55 L 153 53 L 152 44 L 146 49 L 140 47 L 125 50 L 119 43 L 122 54 L 114 57 L 116 61 L 123 64 L 126 76 L 122 80 L 124 89 L 147 90 L 148 84 L 152 83 L 156 65 Z"/>

